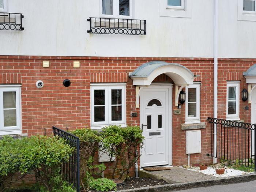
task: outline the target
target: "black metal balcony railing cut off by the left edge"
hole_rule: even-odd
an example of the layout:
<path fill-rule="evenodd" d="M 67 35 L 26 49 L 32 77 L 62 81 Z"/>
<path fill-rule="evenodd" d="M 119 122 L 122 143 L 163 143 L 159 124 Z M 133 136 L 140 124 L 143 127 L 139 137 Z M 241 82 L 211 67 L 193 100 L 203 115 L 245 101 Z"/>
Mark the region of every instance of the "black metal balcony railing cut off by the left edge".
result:
<path fill-rule="evenodd" d="M 24 16 L 20 13 L 0 12 L 0 30 L 22 31 L 22 19 Z"/>

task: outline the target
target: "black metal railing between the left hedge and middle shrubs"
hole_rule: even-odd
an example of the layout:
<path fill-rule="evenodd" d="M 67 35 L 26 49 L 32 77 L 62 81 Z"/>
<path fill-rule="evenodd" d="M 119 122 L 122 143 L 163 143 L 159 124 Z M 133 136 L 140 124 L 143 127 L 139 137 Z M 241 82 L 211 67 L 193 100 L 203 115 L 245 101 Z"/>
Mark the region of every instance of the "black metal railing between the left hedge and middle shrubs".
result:
<path fill-rule="evenodd" d="M 76 191 L 80 191 L 80 163 L 79 163 L 79 138 L 71 133 L 68 133 L 57 127 L 53 128 L 54 136 L 58 135 L 63 138 L 67 144 L 71 147 L 75 147 L 72 156 L 69 158 L 68 162 L 63 162 L 61 164 L 61 174 L 67 182 L 73 184 Z"/>

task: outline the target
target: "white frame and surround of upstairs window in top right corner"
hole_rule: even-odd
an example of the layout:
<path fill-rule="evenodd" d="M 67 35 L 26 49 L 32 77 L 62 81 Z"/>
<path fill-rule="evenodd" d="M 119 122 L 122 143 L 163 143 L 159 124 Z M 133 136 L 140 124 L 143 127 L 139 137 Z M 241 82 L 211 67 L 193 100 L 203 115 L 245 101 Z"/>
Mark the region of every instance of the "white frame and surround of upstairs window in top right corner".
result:
<path fill-rule="evenodd" d="M 237 0 L 238 2 L 238 20 L 256 21 L 256 1 L 255 11 L 244 11 L 244 0 Z"/>

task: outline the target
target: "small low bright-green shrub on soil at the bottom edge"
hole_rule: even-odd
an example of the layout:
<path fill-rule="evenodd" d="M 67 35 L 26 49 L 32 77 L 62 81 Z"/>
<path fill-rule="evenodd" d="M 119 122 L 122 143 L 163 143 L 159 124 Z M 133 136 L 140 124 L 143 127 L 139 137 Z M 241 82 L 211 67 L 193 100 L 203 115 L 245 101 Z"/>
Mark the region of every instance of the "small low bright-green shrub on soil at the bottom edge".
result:
<path fill-rule="evenodd" d="M 107 178 L 93 179 L 90 189 L 96 191 L 116 191 L 116 183 Z"/>

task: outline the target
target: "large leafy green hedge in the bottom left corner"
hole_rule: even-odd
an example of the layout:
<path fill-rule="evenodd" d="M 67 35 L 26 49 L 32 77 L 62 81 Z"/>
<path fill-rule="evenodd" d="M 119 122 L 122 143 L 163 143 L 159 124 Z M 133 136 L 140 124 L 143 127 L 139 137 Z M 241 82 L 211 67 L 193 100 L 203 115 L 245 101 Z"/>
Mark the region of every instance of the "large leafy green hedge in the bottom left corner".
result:
<path fill-rule="evenodd" d="M 56 182 L 59 167 L 68 161 L 74 148 L 57 137 L 32 136 L 13 139 L 5 136 L 0 140 L 0 191 L 10 188 L 11 182 L 35 173 L 36 181 L 47 191 L 61 187 L 62 180 Z M 14 173 L 20 176 L 14 178 Z"/>

